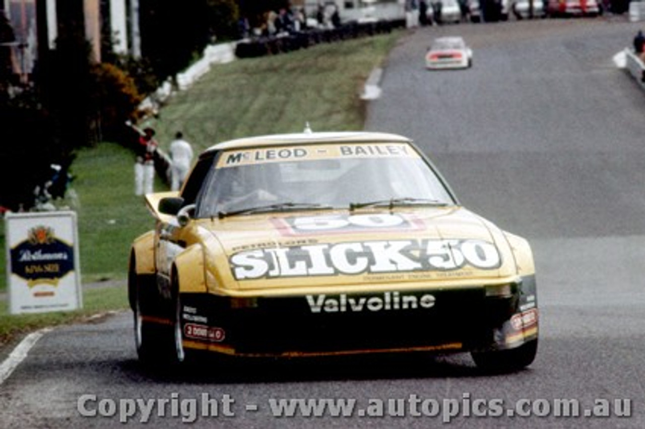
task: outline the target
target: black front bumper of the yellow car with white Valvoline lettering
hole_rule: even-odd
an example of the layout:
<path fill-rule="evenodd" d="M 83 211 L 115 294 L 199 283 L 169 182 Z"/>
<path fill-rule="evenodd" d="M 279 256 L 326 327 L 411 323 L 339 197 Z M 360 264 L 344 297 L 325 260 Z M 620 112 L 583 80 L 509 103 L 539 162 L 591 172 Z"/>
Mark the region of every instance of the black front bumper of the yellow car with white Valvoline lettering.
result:
<path fill-rule="evenodd" d="M 517 347 L 537 338 L 535 278 L 484 287 L 233 298 L 181 294 L 184 348 L 240 356 L 324 356 Z"/>

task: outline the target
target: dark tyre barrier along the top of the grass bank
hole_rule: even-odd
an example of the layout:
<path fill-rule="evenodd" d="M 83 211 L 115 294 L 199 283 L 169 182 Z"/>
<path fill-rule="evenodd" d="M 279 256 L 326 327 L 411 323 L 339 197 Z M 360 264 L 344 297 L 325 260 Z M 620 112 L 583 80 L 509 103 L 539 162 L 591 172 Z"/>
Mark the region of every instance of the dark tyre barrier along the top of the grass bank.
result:
<path fill-rule="evenodd" d="M 405 28 L 404 20 L 359 23 L 351 21 L 338 28 L 312 28 L 298 33 L 283 33 L 239 41 L 235 46 L 237 58 L 254 58 L 287 53 L 309 48 L 315 44 L 333 43 L 359 37 L 390 33 L 394 28 Z"/>

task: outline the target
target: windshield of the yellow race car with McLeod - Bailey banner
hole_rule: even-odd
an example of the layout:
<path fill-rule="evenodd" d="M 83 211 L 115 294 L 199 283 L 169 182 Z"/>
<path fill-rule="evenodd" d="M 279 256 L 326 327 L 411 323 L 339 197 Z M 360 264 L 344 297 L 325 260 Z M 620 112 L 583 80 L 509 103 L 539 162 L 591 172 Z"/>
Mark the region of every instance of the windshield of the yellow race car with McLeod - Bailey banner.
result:
<path fill-rule="evenodd" d="M 440 178 L 408 144 L 284 146 L 221 153 L 195 216 L 452 204 Z"/>

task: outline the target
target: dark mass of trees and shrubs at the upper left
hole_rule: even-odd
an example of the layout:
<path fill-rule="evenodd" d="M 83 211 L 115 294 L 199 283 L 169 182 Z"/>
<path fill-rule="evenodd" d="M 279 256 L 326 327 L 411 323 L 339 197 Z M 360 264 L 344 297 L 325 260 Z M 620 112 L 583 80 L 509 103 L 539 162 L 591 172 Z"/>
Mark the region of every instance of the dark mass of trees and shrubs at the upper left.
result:
<path fill-rule="evenodd" d="M 55 49 L 39 52 L 35 85 L 17 96 L 8 91 L 10 50 L 0 48 L 0 159 L 12 162 L 11 169 L 0 169 L 0 205 L 12 210 L 31 207 L 33 189 L 48 178 L 50 164 L 69 166 L 75 149 L 105 137 L 119 140 L 119 129 L 134 117 L 142 94 L 189 66 L 213 37 L 233 37 L 239 16 L 235 0 L 141 0 L 144 58 L 106 55 L 107 62 L 97 64 L 78 5 L 57 4 L 64 13 Z M 0 39 L 15 41 L 4 16 Z M 17 177 L 14 171 L 29 174 Z"/>

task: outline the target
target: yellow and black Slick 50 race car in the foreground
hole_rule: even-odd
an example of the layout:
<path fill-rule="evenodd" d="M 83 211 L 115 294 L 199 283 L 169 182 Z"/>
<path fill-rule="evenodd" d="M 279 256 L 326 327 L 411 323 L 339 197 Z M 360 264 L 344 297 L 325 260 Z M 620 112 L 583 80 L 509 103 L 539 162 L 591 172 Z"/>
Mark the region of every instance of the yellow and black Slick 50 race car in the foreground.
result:
<path fill-rule="evenodd" d="M 530 245 L 462 207 L 399 135 L 295 133 L 201 153 L 181 191 L 146 195 L 132 245 L 139 357 L 537 351 Z"/>

